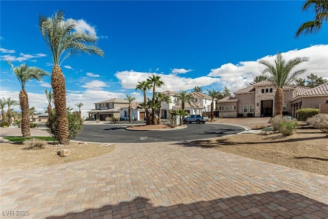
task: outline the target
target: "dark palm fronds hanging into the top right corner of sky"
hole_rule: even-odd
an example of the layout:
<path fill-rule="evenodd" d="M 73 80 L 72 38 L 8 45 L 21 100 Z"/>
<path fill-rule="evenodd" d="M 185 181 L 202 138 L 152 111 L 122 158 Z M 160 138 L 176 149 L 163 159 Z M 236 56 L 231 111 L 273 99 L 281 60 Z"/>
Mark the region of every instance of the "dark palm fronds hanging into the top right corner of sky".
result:
<path fill-rule="evenodd" d="M 315 16 L 313 21 L 305 22 L 299 26 L 295 33 L 295 37 L 300 35 L 316 34 L 321 30 L 322 24 L 328 21 L 328 1 L 327 0 L 307 0 L 305 1 L 302 10 L 309 11 L 314 9 Z"/>

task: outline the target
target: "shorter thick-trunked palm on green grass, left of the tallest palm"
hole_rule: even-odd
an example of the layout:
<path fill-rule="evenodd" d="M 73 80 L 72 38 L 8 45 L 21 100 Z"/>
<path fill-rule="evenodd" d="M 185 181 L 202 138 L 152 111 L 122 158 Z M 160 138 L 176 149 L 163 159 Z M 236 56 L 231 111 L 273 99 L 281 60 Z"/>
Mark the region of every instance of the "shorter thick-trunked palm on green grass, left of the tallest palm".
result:
<path fill-rule="evenodd" d="M 7 63 L 10 65 L 11 70 L 14 73 L 14 76 L 18 80 L 22 90 L 19 92 L 19 105 L 22 110 L 22 135 L 23 137 L 31 136 L 30 131 L 30 110 L 28 95 L 26 92 L 26 84 L 32 79 L 37 81 L 42 81 L 43 76 L 50 75 L 48 72 L 38 68 L 38 67 L 28 67 L 26 64 L 15 67 L 12 63 L 7 60 Z M 33 115 L 32 115 L 33 118 Z M 11 119 L 11 118 L 10 118 Z"/>

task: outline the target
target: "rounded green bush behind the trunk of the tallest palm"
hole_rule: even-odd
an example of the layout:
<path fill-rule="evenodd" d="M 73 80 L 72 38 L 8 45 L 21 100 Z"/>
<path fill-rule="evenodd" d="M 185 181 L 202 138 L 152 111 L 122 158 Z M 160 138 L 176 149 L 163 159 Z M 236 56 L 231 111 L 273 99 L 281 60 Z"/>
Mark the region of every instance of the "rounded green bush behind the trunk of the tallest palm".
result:
<path fill-rule="evenodd" d="M 68 119 L 69 140 L 74 139 L 83 129 L 83 120 L 76 113 L 66 112 Z M 47 132 L 58 140 L 56 110 L 53 110 L 46 122 Z"/>

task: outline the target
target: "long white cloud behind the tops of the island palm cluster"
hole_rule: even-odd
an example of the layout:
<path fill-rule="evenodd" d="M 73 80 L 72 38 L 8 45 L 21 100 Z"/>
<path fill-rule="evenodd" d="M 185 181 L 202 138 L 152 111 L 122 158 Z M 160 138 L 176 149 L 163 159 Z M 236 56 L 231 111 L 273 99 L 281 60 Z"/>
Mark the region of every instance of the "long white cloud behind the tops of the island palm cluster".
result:
<path fill-rule="evenodd" d="M 157 91 L 178 91 L 189 90 L 197 86 L 210 86 L 220 81 L 220 78 L 201 76 L 196 78 L 179 77 L 176 74 L 158 74 L 149 72 L 136 72 L 136 71 L 121 71 L 116 72 L 115 76 L 120 81 L 122 88 L 135 89 L 138 82 L 146 81 L 149 76 L 153 74 L 160 76 L 161 81 L 165 83 L 161 88 L 156 88 Z"/>

